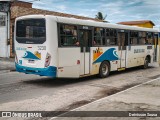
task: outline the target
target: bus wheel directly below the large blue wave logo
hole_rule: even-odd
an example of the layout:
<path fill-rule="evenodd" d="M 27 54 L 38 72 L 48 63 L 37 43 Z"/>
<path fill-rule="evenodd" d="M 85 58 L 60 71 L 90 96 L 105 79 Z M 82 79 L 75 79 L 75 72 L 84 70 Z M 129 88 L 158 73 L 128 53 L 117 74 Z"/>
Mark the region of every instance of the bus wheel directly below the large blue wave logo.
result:
<path fill-rule="evenodd" d="M 110 65 L 107 61 L 101 63 L 99 68 L 99 77 L 105 78 L 109 75 L 110 72 Z"/>

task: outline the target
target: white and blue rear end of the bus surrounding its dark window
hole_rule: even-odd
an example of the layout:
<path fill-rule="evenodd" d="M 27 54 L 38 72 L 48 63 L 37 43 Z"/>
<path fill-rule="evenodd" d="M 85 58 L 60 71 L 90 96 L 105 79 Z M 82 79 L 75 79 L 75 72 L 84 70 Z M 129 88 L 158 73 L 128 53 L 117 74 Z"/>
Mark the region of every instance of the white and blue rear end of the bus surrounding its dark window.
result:
<path fill-rule="evenodd" d="M 23 20 L 33 19 L 32 16 L 22 17 Z M 45 18 L 44 16 L 37 16 L 36 19 Z M 20 19 L 21 20 L 21 19 Z M 41 76 L 57 75 L 57 24 L 50 19 L 45 19 L 46 23 L 46 40 L 43 44 L 22 44 L 18 43 L 15 38 L 16 50 L 16 70 L 26 74 L 37 74 Z M 52 26 L 51 26 L 52 25 Z M 16 36 L 16 34 L 15 34 Z M 53 39 L 52 41 L 50 41 Z M 54 41 L 55 40 L 55 41 Z M 46 64 L 47 56 L 50 56 L 49 65 Z"/>

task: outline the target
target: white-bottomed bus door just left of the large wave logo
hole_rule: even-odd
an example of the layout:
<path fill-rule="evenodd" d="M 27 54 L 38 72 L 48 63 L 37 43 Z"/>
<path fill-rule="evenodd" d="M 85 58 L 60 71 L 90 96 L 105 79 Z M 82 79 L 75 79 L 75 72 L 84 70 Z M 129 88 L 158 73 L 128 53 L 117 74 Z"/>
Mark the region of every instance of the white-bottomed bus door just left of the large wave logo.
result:
<path fill-rule="evenodd" d="M 81 47 L 80 75 L 85 75 L 90 73 L 90 44 L 92 40 L 92 30 L 79 30 L 79 39 Z"/>

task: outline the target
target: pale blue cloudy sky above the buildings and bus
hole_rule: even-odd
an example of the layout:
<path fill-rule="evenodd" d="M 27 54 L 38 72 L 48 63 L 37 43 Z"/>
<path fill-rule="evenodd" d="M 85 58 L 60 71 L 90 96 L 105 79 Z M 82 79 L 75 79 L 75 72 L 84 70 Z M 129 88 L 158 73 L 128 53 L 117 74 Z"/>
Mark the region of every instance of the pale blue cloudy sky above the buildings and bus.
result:
<path fill-rule="evenodd" d="M 160 26 L 160 0 L 24 0 L 33 8 L 95 18 L 98 12 L 107 15 L 106 21 L 118 23 L 133 20 L 152 20 Z"/>

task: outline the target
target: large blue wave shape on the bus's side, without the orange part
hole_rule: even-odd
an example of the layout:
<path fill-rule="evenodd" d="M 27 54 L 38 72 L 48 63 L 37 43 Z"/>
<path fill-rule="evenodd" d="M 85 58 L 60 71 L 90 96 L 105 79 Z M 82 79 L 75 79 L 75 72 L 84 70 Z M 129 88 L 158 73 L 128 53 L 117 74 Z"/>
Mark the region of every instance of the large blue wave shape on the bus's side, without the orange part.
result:
<path fill-rule="evenodd" d="M 113 61 L 113 60 L 118 60 L 118 59 L 119 58 L 118 58 L 116 49 L 115 48 L 110 48 L 107 51 L 105 51 L 97 60 L 95 60 L 93 62 L 93 64 L 103 62 L 105 60 Z"/>

